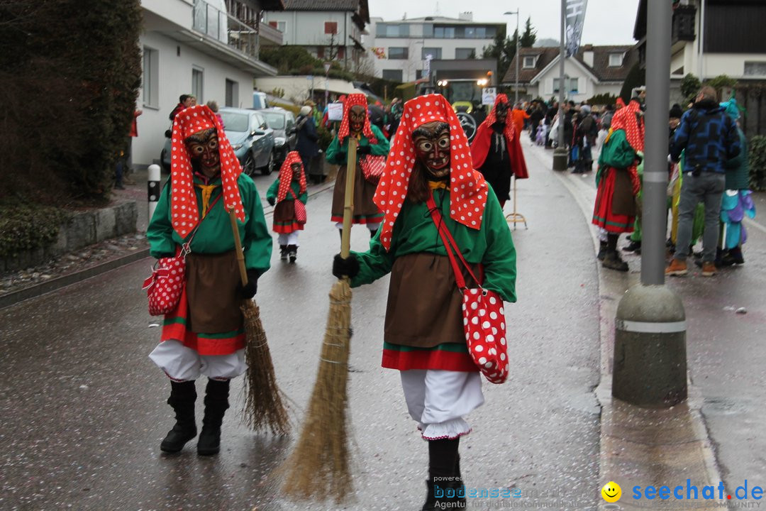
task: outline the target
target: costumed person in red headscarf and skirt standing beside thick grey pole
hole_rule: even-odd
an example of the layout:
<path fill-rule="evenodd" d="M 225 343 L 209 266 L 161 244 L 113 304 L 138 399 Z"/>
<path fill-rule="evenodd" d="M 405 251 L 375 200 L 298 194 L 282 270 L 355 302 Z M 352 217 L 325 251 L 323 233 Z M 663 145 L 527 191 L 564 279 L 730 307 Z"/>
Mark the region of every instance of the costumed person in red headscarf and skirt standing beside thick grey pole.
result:
<path fill-rule="evenodd" d="M 636 197 L 641 189 L 637 165 L 643 159 L 643 113 L 637 100 L 614 113 L 598 159 L 596 204 L 592 223 L 607 231 L 604 260 L 612 270 L 627 271 L 617 252 L 621 233 L 632 232 Z"/>

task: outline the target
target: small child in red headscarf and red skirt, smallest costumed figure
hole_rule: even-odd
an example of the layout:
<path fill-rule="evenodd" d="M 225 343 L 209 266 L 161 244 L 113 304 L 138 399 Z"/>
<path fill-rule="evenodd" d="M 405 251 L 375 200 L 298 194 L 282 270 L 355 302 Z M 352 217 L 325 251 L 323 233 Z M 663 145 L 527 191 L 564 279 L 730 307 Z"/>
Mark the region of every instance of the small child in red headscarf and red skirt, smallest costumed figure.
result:
<path fill-rule="evenodd" d="M 306 173 L 297 151 L 287 153 L 280 175 L 266 192 L 266 200 L 274 206 L 273 231 L 280 235 L 280 259 L 287 260 L 289 257 L 290 262 L 294 263 L 298 257 L 298 231 L 303 231 L 303 224 L 306 223 L 305 206 L 309 200 Z M 300 205 L 296 201 L 303 205 L 303 218 L 300 218 Z"/>

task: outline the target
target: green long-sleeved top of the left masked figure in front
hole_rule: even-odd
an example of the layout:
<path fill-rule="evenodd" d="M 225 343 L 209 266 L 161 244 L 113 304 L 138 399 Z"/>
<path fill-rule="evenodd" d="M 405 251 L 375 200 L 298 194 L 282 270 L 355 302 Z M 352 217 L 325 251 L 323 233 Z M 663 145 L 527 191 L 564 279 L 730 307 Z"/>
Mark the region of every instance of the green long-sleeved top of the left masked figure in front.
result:
<path fill-rule="evenodd" d="M 201 180 L 195 177 L 195 183 Z M 221 184 L 221 178 L 210 183 Z M 245 267 L 248 270 L 256 270 L 260 276 L 270 267 L 271 260 L 271 236 L 266 228 L 264 208 L 260 205 L 260 197 L 255 188 L 255 183 L 244 173 L 237 179 L 240 190 L 242 205 L 244 207 L 244 224 L 237 221 L 240 231 L 240 239 L 244 250 Z M 146 239 L 149 241 L 149 254 L 152 257 L 162 257 L 167 254 L 175 254 L 177 244 L 182 244 L 182 239 L 173 230 L 171 222 L 170 190 L 171 185 L 165 185 L 165 189 L 159 197 L 157 208 L 149 221 L 146 230 Z M 202 198 L 201 190 L 195 186 L 197 205 L 201 216 Z M 221 195 L 221 187 L 215 188 L 210 202 Z M 231 220 L 228 211 L 221 198 L 208 212 L 208 215 L 200 220 L 199 228 L 191 241 L 191 252 L 198 254 L 221 254 L 234 250 L 234 235 L 231 232 Z"/>

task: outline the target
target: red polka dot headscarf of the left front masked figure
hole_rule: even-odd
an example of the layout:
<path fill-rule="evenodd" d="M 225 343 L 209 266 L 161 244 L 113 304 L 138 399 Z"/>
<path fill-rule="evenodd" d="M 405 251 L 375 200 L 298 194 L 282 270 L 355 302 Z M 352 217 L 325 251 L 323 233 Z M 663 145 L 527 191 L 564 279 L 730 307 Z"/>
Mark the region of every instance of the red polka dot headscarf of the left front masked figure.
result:
<path fill-rule="evenodd" d="M 188 136 L 210 128 L 215 128 L 218 133 L 224 205 L 227 210 L 234 208 L 239 221 L 244 222 L 244 208 L 237 187 L 237 179 L 242 173 L 242 167 L 224 134 L 221 121 L 207 105 L 190 106 L 175 116 L 171 142 L 171 222 L 175 232 L 182 238 L 188 236 L 199 222 L 197 195 L 192 181 L 194 171 L 191 169 L 191 159 L 184 141 Z"/>

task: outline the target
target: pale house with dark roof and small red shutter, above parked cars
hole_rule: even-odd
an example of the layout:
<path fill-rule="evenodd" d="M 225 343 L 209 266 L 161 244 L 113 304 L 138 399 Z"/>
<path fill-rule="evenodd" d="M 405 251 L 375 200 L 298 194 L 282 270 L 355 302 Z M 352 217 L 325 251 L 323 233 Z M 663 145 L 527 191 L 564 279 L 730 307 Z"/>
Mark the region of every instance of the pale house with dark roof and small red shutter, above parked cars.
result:
<path fill-rule="evenodd" d="M 264 24 L 283 34 L 283 44 L 303 46 L 316 58 L 355 69 L 365 55 L 367 0 L 284 0 L 284 5 L 284 10 L 264 14 Z"/>

